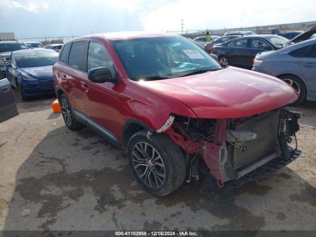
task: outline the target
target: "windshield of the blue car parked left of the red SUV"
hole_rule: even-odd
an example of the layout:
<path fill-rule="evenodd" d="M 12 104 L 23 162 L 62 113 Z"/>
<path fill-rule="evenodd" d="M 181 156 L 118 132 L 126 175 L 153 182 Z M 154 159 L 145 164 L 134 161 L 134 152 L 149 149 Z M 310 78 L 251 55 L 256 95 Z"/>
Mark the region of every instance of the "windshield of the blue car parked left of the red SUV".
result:
<path fill-rule="evenodd" d="M 31 50 L 30 50 L 31 51 Z M 35 51 L 35 50 L 34 50 Z M 58 53 L 51 50 L 23 52 L 15 56 L 19 68 L 33 68 L 54 65 Z"/>

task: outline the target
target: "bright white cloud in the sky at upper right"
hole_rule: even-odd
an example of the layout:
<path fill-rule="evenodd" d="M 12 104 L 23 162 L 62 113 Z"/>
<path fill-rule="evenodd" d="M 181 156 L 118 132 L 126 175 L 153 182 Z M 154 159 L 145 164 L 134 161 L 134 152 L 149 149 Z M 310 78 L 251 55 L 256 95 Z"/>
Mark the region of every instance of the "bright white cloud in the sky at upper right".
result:
<path fill-rule="evenodd" d="M 178 0 L 141 14 L 147 31 L 223 29 L 315 20 L 313 0 Z"/>

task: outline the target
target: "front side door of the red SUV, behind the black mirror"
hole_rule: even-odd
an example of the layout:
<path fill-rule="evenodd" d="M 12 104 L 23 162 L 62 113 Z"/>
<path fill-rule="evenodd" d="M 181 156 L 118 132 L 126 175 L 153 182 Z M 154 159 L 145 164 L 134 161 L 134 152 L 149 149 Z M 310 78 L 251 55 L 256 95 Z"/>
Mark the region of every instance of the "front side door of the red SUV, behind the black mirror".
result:
<path fill-rule="evenodd" d="M 89 41 L 85 67 L 87 115 L 93 122 L 119 137 L 121 125 L 118 122 L 118 110 L 115 109 L 120 104 L 116 90 L 119 85 L 112 82 L 94 83 L 89 81 L 87 76 L 87 72 L 92 68 L 107 67 L 111 70 L 113 77 L 116 77 L 113 61 L 103 42 Z"/>

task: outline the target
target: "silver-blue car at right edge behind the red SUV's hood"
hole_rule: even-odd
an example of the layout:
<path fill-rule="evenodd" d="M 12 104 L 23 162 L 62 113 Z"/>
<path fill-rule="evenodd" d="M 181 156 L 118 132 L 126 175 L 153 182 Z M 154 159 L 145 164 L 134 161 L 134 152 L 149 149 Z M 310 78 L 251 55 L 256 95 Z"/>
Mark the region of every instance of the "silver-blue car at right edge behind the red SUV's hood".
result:
<path fill-rule="evenodd" d="M 316 101 L 316 39 L 256 55 L 253 71 L 282 79 L 299 94 L 292 103 Z"/>

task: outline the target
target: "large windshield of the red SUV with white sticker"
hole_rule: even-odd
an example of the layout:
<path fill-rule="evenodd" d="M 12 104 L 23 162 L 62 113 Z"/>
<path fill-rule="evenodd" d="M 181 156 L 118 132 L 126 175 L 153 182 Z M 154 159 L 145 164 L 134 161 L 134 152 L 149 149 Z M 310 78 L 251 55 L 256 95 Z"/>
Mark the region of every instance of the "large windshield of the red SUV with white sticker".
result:
<path fill-rule="evenodd" d="M 112 44 L 132 80 L 177 78 L 222 69 L 204 50 L 183 37 L 115 40 Z"/>

